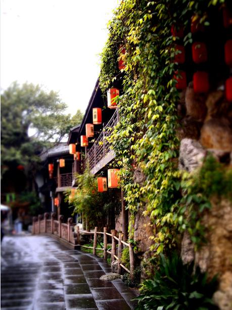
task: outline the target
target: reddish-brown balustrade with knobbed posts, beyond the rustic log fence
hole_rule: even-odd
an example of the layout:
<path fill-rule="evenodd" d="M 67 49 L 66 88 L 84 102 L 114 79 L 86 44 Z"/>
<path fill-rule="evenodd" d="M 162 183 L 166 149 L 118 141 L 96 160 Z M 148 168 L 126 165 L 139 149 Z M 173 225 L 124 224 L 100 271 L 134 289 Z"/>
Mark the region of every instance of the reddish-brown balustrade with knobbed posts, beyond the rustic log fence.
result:
<path fill-rule="evenodd" d="M 77 245 L 76 233 L 74 232 L 74 224 L 72 217 L 68 218 L 68 223 L 62 223 L 64 216 L 59 215 L 56 220 L 56 213 L 44 213 L 33 217 L 32 234 L 50 233 L 66 240 L 69 243 Z"/>

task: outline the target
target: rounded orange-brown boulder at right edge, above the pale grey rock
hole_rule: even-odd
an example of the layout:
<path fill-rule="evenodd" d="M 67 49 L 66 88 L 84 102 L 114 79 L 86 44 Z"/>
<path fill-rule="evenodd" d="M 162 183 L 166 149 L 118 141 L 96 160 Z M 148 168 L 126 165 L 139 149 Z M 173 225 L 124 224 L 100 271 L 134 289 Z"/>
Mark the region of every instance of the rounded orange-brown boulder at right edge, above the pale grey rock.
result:
<path fill-rule="evenodd" d="M 201 129 L 200 143 L 207 149 L 230 152 L 232 150 L 232 130 L 224 118 L 211 118 Z"/>

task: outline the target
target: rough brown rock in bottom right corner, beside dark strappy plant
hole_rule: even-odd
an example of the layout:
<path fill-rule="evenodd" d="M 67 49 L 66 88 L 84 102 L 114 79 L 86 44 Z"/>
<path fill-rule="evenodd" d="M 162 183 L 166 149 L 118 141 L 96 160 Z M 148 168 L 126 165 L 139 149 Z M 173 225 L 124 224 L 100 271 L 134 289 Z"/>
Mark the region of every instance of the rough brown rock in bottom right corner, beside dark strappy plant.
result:
<path fill-rule="evenodd" d="M 232 203 L 212 199 L 212 209 L 203 217 L 208 243 L 195 254 L 195 262 L 210 278 L 218 275 L 219 290 L 214 301 L 220 309 L 232 308 Z"/>

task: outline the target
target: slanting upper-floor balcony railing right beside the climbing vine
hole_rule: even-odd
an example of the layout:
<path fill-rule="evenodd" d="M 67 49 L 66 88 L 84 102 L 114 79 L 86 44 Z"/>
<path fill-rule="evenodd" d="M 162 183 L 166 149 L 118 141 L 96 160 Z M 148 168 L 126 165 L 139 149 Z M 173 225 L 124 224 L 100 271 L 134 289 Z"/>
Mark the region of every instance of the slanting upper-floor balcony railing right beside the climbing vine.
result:
<path fill-rule="evenodd" d="M 90 169 L 94 169 L 104 158 L 106 158 L 110 153 L 113 155 L 113 150 L 111 150 L 110 146 L 111 143 L 106 139 L 112 134 L 112 131 L 115 127 L 115 125 L 119 121 L 119 115 L 118 115 L 118 109 L 114 112 L 113 116 L 107 123 L 105 127 L 103 127 L 103 130 L 101 134 L 99 135 L 98 139 L 94 142 L 94 145 L 89 149 L 88 151 L 88 161 L 89 161 L 89 167 Z M 111 156 L 111 157 L 112 157 Z M 109 161 L 112 159 L 108 156 Z M 105 162 L 104 164 L 106 164 Z M 101 169 L 101 165 L 99 165 L 99 168 L 97 170 Z M 96 173 L 97 170 L 92 171 L 93 173 Z"/>

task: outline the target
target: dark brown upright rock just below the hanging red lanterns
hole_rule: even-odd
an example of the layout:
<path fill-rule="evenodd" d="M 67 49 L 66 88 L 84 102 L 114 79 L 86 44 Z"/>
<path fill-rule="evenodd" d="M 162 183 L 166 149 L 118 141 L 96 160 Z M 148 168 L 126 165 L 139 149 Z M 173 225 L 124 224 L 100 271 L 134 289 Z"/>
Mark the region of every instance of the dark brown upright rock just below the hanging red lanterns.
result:
<path fill-rule="evenodd" d="M 185 92 L 187 115 L 192 116 L 198 121 L 203 121 L 207 112 L 205 100 L 205 95 L 194 93 L 193 82 L 190 82 Z"/>

